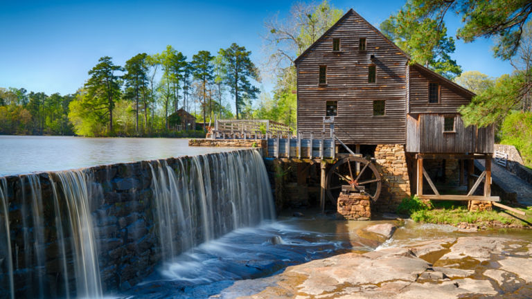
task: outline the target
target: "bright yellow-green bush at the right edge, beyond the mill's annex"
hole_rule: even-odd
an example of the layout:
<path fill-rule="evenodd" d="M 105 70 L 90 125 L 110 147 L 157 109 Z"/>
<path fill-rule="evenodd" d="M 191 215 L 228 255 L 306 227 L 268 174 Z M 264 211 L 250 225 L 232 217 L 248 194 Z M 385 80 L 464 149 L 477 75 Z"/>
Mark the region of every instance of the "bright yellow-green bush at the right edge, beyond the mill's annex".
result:
<path fill-rule="evenodd" d="M 514 145 L 524 164 L 532 167 L 532 112 L 511 111 L 499 131 L 501 143 Z"/>

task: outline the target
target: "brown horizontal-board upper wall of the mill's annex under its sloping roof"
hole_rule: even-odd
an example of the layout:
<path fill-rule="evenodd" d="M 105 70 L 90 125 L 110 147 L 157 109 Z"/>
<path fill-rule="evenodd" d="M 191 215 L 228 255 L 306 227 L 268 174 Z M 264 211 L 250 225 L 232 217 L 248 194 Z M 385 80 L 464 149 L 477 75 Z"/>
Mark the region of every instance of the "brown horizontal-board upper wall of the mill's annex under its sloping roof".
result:
<path fill-rule="evenodd" d="M 454 114 L 461 105 L 468 105 L 471 101 L 472 93 L 463 91 L 418 66 L 410 66 L 409 78 L 409 113 Z M 429 82 L 440 84 L 439 103 L 429 103 Z"/>

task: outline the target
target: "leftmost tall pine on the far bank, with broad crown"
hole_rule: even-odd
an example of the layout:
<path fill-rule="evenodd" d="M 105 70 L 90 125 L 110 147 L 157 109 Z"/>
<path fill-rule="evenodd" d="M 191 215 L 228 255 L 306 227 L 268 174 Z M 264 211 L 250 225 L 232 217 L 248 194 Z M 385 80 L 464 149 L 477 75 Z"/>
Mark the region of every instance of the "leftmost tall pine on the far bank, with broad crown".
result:
<path fill-rule="evenodd" d="M 109 120 L 109 134 L 113 133 L 113 109 L 121 95 L 121 82 L 116 71 L 122 71 L 109 56 L 101 57 L 98 64 L 89 71 L 91 78 L 85 83 L 87 100 L 85 107 L 98 114 L 100 120 Z"/>

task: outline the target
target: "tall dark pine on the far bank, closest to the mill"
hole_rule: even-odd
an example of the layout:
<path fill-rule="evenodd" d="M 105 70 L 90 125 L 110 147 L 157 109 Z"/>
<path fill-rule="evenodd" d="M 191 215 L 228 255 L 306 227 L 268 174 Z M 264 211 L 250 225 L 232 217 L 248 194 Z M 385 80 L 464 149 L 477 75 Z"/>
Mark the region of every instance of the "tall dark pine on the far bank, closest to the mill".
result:
<path fill-rule="evenodd" d="M 258 88 L 254 87 L 249 79 L 259 81 L 258 70 L 249 56 L 251 51 L 246 51 L 244 46 L 231 44 L 229 48 L 220 49 L 224 57 L 224 83 L 229 87 L 229 92 L 235 97 L 236 119 L 238 111 L 247 104 L 247 101 L 257 97 Z"/>

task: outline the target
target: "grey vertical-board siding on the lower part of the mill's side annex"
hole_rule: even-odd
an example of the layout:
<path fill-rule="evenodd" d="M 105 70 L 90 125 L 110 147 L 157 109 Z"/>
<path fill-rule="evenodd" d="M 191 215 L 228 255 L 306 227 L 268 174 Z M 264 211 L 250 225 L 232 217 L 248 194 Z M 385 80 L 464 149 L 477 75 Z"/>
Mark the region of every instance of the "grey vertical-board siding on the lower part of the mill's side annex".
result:
<path fill-rule="evenodd" d="M 407 152 L 464 154 L 493 153 L 493 126 L 477 129 L 464 127 L 456 114 L 455 132 L 443 132 L 443 115 L 408 116 Z"/>

